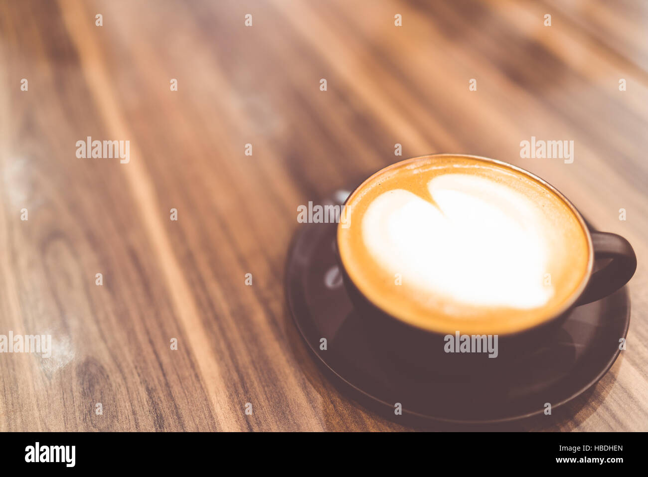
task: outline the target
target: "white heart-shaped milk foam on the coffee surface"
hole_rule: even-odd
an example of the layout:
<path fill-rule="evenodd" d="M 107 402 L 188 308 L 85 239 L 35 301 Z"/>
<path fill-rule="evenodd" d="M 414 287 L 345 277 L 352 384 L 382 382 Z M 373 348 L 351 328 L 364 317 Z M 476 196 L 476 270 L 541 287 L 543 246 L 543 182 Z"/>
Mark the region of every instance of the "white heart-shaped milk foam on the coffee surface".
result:
<path fill-rule="evenodd" d="M 550 242 L 534 202 L 470 174 L 439 175 L 427 188 L 434 203 L 392 189 L 367 207 L 362 237 L 382 268 L 400 273 L 402 286 L 466 305 L 548 303 L 555 291 L 545 284 Z"/>

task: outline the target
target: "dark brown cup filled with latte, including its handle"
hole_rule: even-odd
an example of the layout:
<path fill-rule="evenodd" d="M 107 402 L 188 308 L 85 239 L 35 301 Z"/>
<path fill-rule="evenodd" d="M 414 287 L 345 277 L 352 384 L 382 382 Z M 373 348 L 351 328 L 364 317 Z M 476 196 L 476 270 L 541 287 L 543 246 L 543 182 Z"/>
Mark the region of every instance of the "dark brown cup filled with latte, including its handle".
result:
<path fill-rule="evenodd" d="M 625 238 L 590 231 L 549 183 L 486 157 L 400 161 L 351 192 L 343 213 L 345 287 L 376 353 L 408 369 L 513 362 L 636 269 Z"/>

